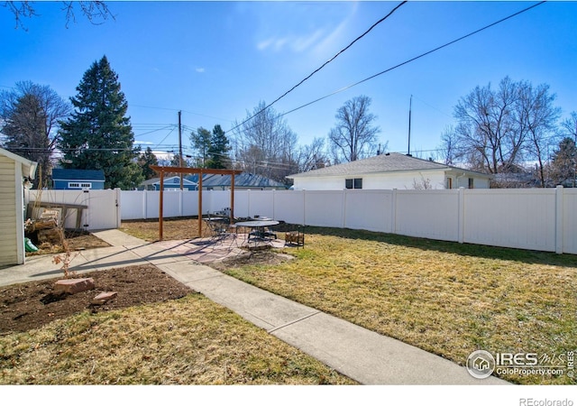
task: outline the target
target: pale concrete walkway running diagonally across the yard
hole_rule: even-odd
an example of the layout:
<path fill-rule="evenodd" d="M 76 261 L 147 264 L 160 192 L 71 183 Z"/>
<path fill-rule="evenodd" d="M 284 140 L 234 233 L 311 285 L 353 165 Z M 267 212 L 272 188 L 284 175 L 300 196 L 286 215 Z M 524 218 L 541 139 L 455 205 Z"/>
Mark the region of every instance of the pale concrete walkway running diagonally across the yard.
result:
<path fill-rule="evenodd" d="M 206 247 L 190 249 L 187 241 L 146 243 L 118 230 L 93 234 L 112 246 L 80 251 L 70 271 L 81 274 L 152 263 L 191 289 L 359 383 L 507 384 L 492 376 L 483 380 L 473 378 L 464 367 L 440 356 L 218 272 L 199 261 L 209 254 Z M 234 245 L 228 248 L 233 254 L 237 249 Z M 0 269 L 0 286 L 61 275 L 61 265 L 52 263 L 52 256 L 32 256 L 24 265 Z"/>

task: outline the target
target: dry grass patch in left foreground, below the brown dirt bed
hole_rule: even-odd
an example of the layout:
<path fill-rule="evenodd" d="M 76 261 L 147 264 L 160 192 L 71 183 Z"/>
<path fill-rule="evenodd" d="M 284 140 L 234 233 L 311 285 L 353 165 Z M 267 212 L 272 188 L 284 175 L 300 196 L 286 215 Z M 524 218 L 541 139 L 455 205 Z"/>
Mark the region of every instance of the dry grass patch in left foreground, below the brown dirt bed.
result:
<path fill-rule="evenodd" d="M 354 383 L 199 294 L 86 311 L 0 337 L 0 354 L 0 384 Z"/>

